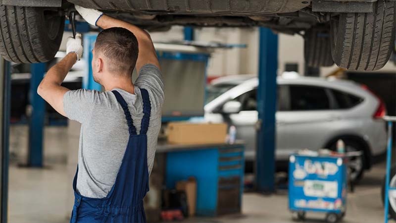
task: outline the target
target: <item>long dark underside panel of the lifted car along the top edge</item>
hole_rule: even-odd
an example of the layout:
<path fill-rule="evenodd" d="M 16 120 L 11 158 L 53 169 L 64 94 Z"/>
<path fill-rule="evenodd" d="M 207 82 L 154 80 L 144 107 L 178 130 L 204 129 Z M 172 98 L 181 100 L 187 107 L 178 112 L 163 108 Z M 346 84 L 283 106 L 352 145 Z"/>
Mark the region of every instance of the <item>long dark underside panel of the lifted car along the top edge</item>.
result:
<path fill-rule="evenodd" d="M 68 0 L 88 8 L 146 13 L 255 15 L 295 12 L 311 0 Z"/>

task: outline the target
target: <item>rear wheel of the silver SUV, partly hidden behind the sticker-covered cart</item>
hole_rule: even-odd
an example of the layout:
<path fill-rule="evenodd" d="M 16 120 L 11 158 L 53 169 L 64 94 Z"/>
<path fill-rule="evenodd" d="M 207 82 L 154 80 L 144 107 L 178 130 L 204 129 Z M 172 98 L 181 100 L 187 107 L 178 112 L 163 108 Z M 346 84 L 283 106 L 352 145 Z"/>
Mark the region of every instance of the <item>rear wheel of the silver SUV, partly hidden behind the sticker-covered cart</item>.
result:
<path fill-rule="evenodd" d="M 349 139 L 342 139 L 345 143 L 345 151 L 346 152 L 357 152 L 363 151 L 363 156 L 351 158 L 348 161 L 349 167 L 349 179 L 353 183 L 357 183 L 362 177 L 365 168 L 365 157 L 364 157 L 364 150 L 359 143 L 349 140 Z M 333 150 L 336 150 L 337 142 L 332 146 Z"/>

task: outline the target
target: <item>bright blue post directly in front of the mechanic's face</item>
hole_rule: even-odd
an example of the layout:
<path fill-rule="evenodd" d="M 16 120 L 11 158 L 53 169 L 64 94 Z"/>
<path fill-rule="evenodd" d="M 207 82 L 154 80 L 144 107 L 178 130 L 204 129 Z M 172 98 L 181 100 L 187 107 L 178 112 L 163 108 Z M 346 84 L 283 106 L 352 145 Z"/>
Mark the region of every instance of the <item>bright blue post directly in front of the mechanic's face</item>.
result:
<path fill-rule="evenodd" d="M 83 77 L 83 88 L 84 89 L 90 89 L 90 90 L 97 90 L 101 91 L 102 86 L 95 82 L 94 80 L 94 75 L 92 73 L 92 50 L 94 50 L 95 47 L 95 41 L 97 38 L 98 34 L 91 34 L 87 33 L 84 34 L 84 59 L 86 61 L 86 68 L 87 68 L 87 73 Z"/>

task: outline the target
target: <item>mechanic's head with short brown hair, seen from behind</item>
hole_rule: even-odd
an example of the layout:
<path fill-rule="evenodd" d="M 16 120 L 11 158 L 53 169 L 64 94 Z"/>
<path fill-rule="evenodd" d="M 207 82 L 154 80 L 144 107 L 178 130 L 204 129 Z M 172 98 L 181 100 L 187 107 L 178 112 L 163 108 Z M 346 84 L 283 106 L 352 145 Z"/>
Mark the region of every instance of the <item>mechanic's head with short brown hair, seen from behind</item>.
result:
<path fill-rule="evenodd" d="M 139 54 L 138 40 L 125 28 L 104 29 L 96 39 L 95 51 L 109 59 L 110 72 L 132 75 Z"/>

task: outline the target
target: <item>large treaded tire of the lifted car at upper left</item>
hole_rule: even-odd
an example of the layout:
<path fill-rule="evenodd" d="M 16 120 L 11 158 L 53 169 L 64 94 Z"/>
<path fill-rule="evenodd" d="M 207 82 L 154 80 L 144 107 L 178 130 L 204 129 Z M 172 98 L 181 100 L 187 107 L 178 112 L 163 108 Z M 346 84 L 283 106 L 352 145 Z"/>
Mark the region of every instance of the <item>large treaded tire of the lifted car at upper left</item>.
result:
<path fill-rule="evenodd" d="M 51 60 L 59 50 L 65 17 L 45 7 L 0 5 L 0 54 L 16 63 Z"/>

